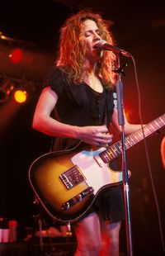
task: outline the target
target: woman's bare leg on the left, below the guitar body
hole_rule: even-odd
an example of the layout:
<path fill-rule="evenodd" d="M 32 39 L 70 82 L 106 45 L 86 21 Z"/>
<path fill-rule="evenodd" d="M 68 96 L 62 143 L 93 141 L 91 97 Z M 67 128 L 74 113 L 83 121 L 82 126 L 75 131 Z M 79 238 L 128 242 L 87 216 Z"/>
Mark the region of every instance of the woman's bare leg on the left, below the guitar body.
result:
<path fill-rule="evenodd" d="M 74 225 L 78 248 L 75 256 L 98 256 L 101 249 L 100 221 L 95 212 Z"/>

